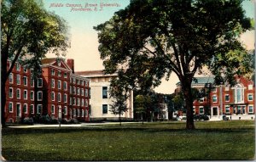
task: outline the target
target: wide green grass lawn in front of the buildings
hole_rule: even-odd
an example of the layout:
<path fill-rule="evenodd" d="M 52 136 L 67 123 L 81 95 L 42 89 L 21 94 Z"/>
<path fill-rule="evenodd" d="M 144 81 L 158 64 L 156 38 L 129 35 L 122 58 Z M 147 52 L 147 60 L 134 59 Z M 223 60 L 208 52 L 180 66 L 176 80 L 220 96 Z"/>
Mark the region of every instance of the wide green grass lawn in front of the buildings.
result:
<path fill-rule="evenodd" d="M 254 121 L 156 122 L 99 127 L 4 128 L 8 160 L 253 159 Z"/>

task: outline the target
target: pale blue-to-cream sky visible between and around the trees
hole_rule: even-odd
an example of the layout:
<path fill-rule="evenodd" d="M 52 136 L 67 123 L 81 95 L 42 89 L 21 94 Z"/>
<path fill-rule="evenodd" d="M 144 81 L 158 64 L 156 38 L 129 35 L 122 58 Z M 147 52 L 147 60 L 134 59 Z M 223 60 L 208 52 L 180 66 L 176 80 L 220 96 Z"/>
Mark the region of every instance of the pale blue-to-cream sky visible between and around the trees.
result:
<path fill-rule="evenodd" d="M 67 59 L 74 59 L 75 71 L 103 70 L 102 59 L 98 52 L 97 31 L 93 26 L 109 20 L 114 12 L 129 5 L 130 0 L 43 0 L 44 8 L 55 12 L 67 21 L 71 47 L 67 51 Z M 80 11 L 78 8 L 85 8 Z M 243 3 L 247 17 L 254 18 L 253 0 Z M 253 49 L 254 32 L 248 31 L 241 36 L 241 42 L 247 49 Z M 47 54 L 48 58 L 55 57 Z M 178 82 L 177 76 L 172 74 L 169 81 L 162 80 L 155 92 L 172 93 Z"/>

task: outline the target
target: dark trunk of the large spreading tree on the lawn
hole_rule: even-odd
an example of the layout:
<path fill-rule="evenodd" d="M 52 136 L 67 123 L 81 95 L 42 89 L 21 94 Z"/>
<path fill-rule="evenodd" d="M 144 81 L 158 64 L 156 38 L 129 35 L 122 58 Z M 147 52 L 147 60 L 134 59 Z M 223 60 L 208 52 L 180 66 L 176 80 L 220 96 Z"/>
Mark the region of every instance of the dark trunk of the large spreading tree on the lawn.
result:
<path fill-rule="evenodd" d="M 183 80 L 183 95 L 185 99 L 185 109 L 187 110 L 187 123 L 186 129 L 187 130 L 194 130 L 194 116 L 193 116 L 193 98 L 191 92 L 191 81 L 192 79 L 184 79 Z"/>

